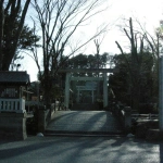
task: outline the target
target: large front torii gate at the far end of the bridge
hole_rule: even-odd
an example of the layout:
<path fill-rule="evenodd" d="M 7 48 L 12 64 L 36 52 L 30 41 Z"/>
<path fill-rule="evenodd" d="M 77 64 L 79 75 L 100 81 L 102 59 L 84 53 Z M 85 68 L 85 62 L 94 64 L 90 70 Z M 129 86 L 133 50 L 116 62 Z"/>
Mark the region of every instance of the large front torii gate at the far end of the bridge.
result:
<path fill-rule="evenodd" d="M 114 73 L 115 68 L 67 68 L 60 70 L 59 73 L 66 73 L 64 105 L 70 103 L 70 83 L 71 80 L 103 80 L 103 106 L 108 106 L 108 73 Z M 103 77 L 72 77 L 71 73 L 102 73 Z"/>

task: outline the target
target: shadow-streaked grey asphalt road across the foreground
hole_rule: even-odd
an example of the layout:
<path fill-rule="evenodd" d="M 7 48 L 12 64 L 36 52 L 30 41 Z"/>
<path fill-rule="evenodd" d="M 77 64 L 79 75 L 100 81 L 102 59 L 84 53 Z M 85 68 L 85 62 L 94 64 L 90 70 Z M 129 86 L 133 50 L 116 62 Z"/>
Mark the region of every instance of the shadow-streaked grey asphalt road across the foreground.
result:
<path fill-rule="evenodd" d="M 0 141 L 0 163 L 163 163 L 163 142 L 113 137 Z"/>

